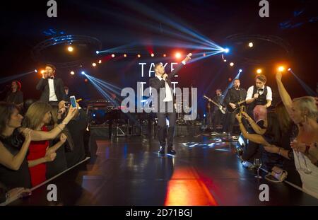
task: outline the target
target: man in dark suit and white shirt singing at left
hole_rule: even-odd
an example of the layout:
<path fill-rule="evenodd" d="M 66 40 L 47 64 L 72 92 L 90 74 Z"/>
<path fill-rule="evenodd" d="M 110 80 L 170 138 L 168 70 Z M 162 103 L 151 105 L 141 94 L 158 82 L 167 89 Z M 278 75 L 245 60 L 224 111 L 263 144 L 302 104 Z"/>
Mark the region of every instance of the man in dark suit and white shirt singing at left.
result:
<path fill-rule="evenodd" d="M 65 100 L 64 83 L 55 77 L 56 68 L 52 64 L 45 66 L 45 72 L 37 83 L 37 90 L 42 91 L 40 100 L 50 105 L 57 105 L 61 100 Z"/>

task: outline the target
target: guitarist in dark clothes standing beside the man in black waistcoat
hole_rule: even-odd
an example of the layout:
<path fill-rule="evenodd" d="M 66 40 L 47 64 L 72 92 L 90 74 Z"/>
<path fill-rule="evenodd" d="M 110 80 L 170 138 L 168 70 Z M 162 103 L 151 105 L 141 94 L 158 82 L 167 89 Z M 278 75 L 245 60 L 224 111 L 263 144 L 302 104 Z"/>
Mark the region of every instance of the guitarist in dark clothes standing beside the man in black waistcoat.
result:
<path fill-rule="evenodd" d="M 224 103 L 228 106 L 228 115 L 225 120 L 224 132 L 229 133 L 230 135 L 233 132 L 233 126 L 235 123 L 235 115 L 240 112 L 240 108 L 237 105 L 242 100 L 246 99 L 247 92 L 244 88 L 240 88 L 240 79 L 235 79 L 233 81 L 233 87 L 228 90 L 228 93 L 225 95 Z M 237 110 L 235 110 L 237 108 Z M 235 110 L 232 112 L 232 110 Z M 231 113 L 232 112 L 232 113 Z"/>

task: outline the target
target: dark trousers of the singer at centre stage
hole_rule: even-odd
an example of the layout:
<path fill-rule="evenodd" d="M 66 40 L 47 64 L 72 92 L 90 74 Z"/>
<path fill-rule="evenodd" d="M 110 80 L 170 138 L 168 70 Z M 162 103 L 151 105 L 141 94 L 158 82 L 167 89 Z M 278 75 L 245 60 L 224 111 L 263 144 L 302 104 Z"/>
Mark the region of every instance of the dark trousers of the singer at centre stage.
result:
<path fill-rule="evenodd" d="M 173 136 L 175 133 L 175 108 L 173 112 L 167 112 L 167 103 L 165 103 L 165 112 L 158 112 L 158 139 L 160 146 L 165 147 L 167 139 L 167 150 L 171 150 L 173 146 Z M 169 127 L 166 125 L 166 118 L 169 120 Z"/>

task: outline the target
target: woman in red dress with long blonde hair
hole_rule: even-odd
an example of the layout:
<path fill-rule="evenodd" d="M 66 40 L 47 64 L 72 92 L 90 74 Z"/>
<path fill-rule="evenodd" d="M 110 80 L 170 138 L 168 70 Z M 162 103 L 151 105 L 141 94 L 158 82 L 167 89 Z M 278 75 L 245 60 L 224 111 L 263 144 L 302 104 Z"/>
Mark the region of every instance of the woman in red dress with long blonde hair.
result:
<path fill-rule="evenodd" d="M 25 113 L 25 127 L 47 132 L 45 125 L 51 121 L 52 107 L 47 103 L 33 103 Z M 32 186 L 35 187 L 46 180 L 47 162 L 54 161 L 55 151 L 64 144 L 66 136 L 61 135 L 60 141 L 49 149 L 49 141 L 31 141 L 27 156 Z"/>

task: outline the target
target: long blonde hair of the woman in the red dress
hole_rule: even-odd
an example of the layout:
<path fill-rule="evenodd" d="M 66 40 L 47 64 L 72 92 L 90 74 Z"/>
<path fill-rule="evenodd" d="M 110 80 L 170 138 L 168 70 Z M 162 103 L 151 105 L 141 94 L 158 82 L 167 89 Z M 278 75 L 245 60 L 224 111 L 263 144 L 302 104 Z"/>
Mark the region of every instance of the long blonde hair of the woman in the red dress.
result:
<path fill-rule="evenodd" d="M 23 127 L 36 129 L 43 120 L 47 112 L 51 112 L 52 107 L 47 103 L 36 102 L 30 105 L 23 119 Z"/>

